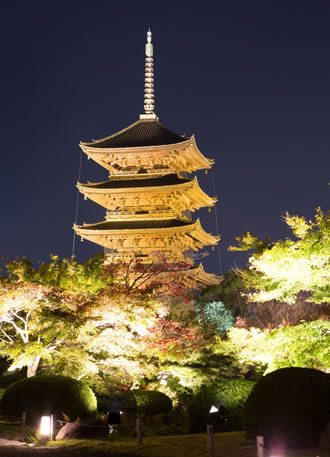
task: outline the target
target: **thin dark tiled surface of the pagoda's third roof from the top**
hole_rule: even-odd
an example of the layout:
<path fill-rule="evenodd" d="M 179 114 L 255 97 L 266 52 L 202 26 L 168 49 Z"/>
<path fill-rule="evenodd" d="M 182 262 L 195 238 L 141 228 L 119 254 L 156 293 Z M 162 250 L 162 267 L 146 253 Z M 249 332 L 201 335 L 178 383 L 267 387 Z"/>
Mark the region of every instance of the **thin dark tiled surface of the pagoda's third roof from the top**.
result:
<path fill-rule="evenodd" d="M 138 229 L 160 229 L 174 228 L 192 225 L 194 222 L 182 221 L 179 219 L 164 220 L 142 220 L 142 221 L 104 221 L 97 224 L 87 224 L 79 226 L 85 230 L 138 230 Z"/>

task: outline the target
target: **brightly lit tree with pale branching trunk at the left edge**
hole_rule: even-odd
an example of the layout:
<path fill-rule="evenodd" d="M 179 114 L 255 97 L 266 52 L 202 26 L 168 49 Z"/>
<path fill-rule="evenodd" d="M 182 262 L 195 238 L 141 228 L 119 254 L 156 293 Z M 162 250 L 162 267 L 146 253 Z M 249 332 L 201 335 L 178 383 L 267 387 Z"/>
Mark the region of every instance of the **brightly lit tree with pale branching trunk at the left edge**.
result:
<path fill-rule="evenodd" d="M 11 361 L 10 370 L 27 367 L 35 376 L 43 359 L 54 363 L 68 345 L 82 363 L 86 354 L 76 341 L 88 332 L 85 303 L 63 296 L 54 288 L 22 281 L 0 285 L 0 354 Z"/>

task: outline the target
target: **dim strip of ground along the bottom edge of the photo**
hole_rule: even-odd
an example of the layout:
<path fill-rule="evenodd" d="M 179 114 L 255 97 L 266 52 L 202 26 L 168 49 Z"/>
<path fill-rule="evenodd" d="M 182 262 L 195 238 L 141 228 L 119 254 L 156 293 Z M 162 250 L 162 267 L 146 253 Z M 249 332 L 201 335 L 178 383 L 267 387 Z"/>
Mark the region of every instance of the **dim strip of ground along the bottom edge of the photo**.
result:
<path fill-rule="evenodd" d="M 70 447 L 65 447 L 67 444 L 70 444 Z M 216 434 L 214 449 L 214 457 L 256 457 L 254 442 L 247 440 L 243 432 Z M 63 442 L 58 447 L 29 447 L 19 441 L 0 439 L 1 457 L 187 457 L 188 455 L 189 457 L 207 455 L 205 434 L 145 437 L 142 446 L 137 446 L 136 439 L 133 438 L 128 441 L 114 442 L 75 440 Z M 265 457 L 269 457 L 267 452 Z M 330 457 L 330 451 L 325 449 L 290 451 L 285 457 Z"/>

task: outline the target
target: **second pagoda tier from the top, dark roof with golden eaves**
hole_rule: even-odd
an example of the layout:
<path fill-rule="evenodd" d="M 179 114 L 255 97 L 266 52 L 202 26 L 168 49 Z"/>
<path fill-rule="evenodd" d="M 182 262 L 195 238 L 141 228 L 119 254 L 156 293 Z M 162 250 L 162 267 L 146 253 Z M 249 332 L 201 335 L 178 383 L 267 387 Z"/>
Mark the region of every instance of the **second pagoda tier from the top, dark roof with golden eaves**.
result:
<path fill-rule="evenodd" d="M 209 197 L 193 180 L 165 175 L 158 178 L 109 180 L 77 185 L 79 191 L 108 210 L 106 219 L 146 219 L 181 217 L 186 210 L 213 206 Z"/>

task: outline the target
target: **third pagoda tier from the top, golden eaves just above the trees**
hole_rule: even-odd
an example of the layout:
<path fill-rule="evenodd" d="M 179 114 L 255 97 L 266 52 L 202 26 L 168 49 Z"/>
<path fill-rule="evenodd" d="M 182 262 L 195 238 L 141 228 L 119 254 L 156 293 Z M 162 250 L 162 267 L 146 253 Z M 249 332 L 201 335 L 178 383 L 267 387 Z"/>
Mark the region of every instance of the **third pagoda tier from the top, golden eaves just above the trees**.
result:
<path fill-rule="evenodd" d="M 105 221 L 75 225 L 74 229 L 81 237 L 110 250 L 108 256 L 123 261 L 135 255 L 152 262 L 157 251 L 171 261 L 183 260 L 186 251 L 216 245 L 220 238 L 205 232 L 199 220 L 183 219 Z"/>

